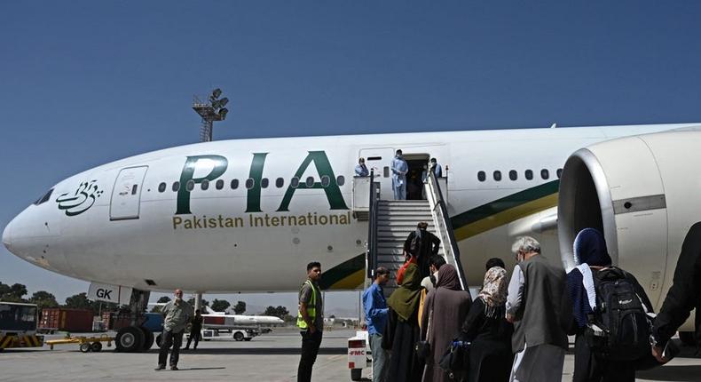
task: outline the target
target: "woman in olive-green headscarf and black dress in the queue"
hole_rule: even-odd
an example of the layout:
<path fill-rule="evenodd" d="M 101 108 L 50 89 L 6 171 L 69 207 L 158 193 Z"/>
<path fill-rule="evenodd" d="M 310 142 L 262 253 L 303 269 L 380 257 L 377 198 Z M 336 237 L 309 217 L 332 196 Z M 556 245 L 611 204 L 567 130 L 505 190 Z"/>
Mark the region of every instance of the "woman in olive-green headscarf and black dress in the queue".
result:
<path fill-rule="evenodd" d="M 382 347 L 391 350 L 388 382 L 420 381 L 423 362 L 414 352 L 419 340 L 419 299 L 421 276 L 419 267 L 410 263 L 406 267 L 402 284 L 387 299 L 389 314 L 382 336 Z"/>

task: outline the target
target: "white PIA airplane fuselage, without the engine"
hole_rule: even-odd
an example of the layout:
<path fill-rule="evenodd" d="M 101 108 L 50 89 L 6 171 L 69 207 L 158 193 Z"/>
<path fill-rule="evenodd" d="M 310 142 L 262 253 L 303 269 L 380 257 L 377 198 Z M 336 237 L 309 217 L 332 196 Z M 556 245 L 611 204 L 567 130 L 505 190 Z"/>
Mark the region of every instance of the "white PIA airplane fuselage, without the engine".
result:
<path fill-rule="evenodd" d="M 173 147 L 59 182 L 44 203 L 12 220 L 3 240 L 37 266 L 141 290 L 297 290 L 312 260 L 322 264 L 325 287 L 354 289 L 363 282 L 367 222 L 351 215 L 353 169 L 358 156 L 366 157 L 381 175 L 382 196 L 390 198 L 384 167 L 401 148 L 407 159 L 436 157 L 447 172 L 461 262 L 468 282 L 478 285 L 486 259 L 513 263 L 513 236 L 555 213 L 557 170 L 572 152 L 679 127 L 240 139 Z M 529 170 L 532 179 L 525 177 Z M 494 171 L 500 171 L 499 181 Z M 208 177 L 209 187 L 202 189 Z M 295 178 L 299 186 L 291 187 Z M 556 237 L 544 230 L 539 239 L 544 254 L 559 262 Z"/>

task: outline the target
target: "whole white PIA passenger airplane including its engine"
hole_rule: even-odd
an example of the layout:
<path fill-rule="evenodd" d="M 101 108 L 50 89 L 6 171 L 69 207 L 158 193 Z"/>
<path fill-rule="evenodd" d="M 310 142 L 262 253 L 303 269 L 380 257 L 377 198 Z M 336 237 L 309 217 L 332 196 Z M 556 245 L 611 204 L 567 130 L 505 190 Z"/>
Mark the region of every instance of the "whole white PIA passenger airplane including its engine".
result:
<path fill-rule="evenodd" d="M 311 260 L 322 264 L 323 289 L 353 290 L 364 282 L 367 237 L 367 222 L 350 210 L 354 165 L 366 157 L 380 174 L 382 198 L 391 198 L 389 166 L 401 148 L 412 170 L 436 157 L 447 172 L 448 212 L 470 285 L 482 282 L 486 259 L 513 264 L 516 235 L 535 236 L 548 258 L 562 255 L 571 267 L 573 235 L 598 227 L 612 258 L 636 275 L 659 307 L 681 242 L 701 219 L 700 127 L 237 139 L 172 147 L 59 182 L 12 219 L 3 242 L 38 267 L 123 288 L 126 295 L 175 288 L 298 290 Z"/>

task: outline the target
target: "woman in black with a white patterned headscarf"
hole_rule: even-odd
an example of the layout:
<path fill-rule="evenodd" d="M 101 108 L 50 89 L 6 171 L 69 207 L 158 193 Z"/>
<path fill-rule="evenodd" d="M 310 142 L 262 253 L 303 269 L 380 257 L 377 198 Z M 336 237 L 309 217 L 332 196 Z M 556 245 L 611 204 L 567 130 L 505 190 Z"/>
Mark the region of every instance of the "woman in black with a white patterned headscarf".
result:
<path fill-rule="evenodd" d="M 506 269 L 489 268 L 484 274 L 483 285 L 462 324 L 461 339 L 471 343 L 468 381 L 508 381 L 514 362 L 511 352 L 514 327 L 505 318 Z"/>

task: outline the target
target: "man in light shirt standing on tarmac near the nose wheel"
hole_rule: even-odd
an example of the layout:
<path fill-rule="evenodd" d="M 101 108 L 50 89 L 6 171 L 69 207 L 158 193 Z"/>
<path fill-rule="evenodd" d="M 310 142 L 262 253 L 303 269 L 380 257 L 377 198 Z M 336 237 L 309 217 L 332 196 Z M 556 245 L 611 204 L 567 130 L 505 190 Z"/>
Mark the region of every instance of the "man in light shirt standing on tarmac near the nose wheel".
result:
<path fill-rule="evenodd" d="M 170 370 L 177 370 L 177 360 L 180 356 L 180 346 L 183 345 L 185 325 L 193 316 L 193 308 L 183 300 L 183 290 L 175 290 L 175 299 L 163 306 L 161 313 L 165 315 L 163 320 L 163 333 L 161 334 L 161 351 L 158 353 L 158 367 L 156 370 L 166 368 L 168 349 L 173 346 L 170 353 Z"/>

